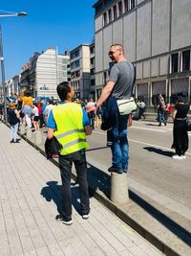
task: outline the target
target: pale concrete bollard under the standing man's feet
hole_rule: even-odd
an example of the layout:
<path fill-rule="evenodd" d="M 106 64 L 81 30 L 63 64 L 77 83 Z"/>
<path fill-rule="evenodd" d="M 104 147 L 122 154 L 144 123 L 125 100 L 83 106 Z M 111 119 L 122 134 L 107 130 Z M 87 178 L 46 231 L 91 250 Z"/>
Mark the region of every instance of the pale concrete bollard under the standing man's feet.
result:
<path fill-rule="evenodd" d="M 117 204 L 124 204 L 128 199 L 127 174 L 111 173 L 111 200 Z"/>

